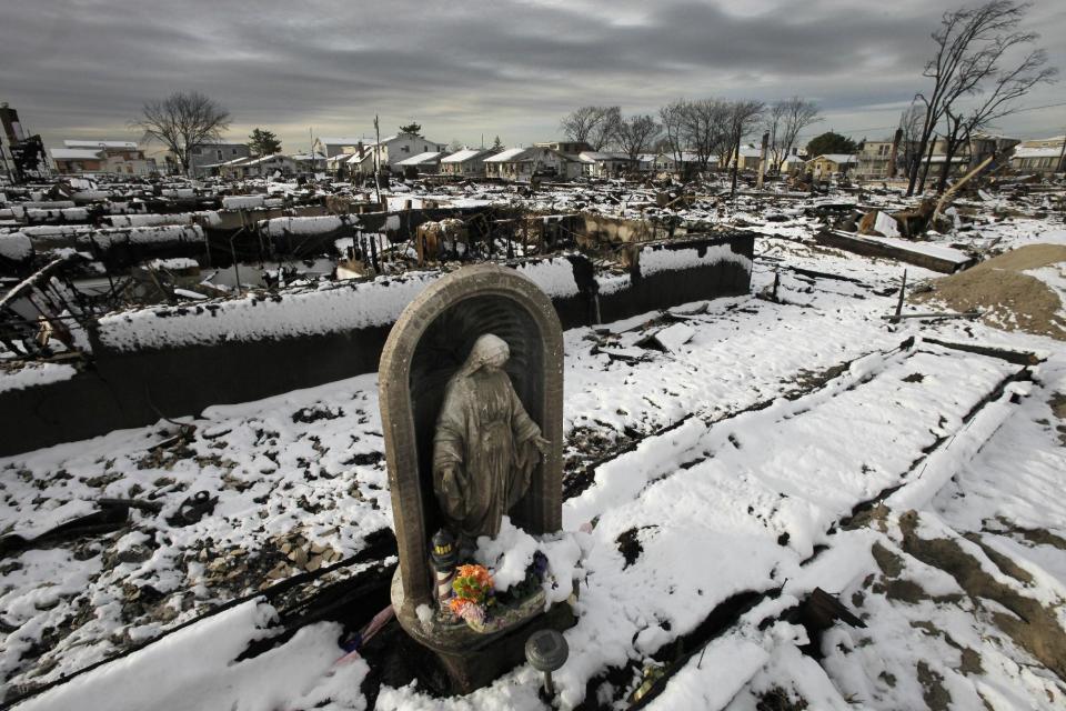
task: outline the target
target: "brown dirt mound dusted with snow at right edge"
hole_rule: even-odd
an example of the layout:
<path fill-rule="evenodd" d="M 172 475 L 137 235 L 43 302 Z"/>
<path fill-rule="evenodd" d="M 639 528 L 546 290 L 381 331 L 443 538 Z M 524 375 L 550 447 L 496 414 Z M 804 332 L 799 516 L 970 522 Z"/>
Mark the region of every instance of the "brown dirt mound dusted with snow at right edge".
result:
<path fill-rule="evenodd" d="M 1023 273 L 1066 262 L 1066 246 L 1029 244 L 964 272 L 932 282 L 915 302 L 937 302 L 956 311 L 977 309 L 989 326 L 1066 340 L 1066 316 L 1054 289 Z"/>

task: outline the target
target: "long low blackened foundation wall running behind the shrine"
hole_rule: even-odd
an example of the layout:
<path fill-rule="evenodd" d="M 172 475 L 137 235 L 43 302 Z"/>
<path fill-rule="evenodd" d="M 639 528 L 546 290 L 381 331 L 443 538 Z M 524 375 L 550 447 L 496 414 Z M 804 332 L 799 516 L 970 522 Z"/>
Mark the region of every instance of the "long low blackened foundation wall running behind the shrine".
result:
<path fill-rule="evenodd" d="M 610 322 L 746 293 L 750 288 L 753 234 L 645 247 L 642 253 L 663 249 L 688 250 L 694 257 L 683 268 L 648 274 L 641 274 L 637 266 L 623 288 L 602 291 L 591 262 L 582 256 L 570 257 L 579 293 L 552 300 L 563 328 L 594 324 L 597 306 L 601 320 Z M 701 249 L 707 254 L 705 263 L 698 258 Z M 730 258 L 714 257 L 721 250 Z M 0 455 L 375 372 L 390 329 L 386 324 L 300 338 L 132 351 L 95 341 L 92 363 L 70 380 L 0 392 L 0 431 L 4 432 Z"/>

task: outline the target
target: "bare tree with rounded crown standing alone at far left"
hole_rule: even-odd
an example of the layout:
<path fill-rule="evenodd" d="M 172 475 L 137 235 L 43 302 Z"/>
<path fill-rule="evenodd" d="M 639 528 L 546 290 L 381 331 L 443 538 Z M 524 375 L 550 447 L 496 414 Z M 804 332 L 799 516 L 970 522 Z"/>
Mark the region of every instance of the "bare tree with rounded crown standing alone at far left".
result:
<path fill-rule="evenodd" d="M 165 99 L 145 102 L 141 117 L 130 126 L 167 146 L 188 174 L 193 149 L 220 140 L 222 131 L 230 128 L 230 114 L 199 91 L 175 91 Z"/>

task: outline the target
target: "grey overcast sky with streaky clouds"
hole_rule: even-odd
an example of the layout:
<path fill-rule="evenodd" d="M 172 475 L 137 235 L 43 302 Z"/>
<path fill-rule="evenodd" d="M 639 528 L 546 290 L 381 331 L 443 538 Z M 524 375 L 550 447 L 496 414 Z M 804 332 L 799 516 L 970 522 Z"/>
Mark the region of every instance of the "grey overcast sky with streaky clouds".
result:
<path fill-rule="evenodd" d="M 414 119 L 432 140 L 520 144 L 559 137 L 582 104 L 653 112 L 677 98 L 816 100 L 855 138 L 891 133 L 927 87 L 942 0 L 31 0 L 0 22 L 0 101 L 46 144 L 139 138 L 145 99 L 198 90 L 284 150 L 314 136 L 370 136 Z M 1027 26 L 1066 71 L 1066 2 Z M 1066 102 L 1066 78 L 1022 106 Z M 1063 133 L 1066 106 L 1003 122 Z M 561 138 L 561 137 L 559 137 Z"/>

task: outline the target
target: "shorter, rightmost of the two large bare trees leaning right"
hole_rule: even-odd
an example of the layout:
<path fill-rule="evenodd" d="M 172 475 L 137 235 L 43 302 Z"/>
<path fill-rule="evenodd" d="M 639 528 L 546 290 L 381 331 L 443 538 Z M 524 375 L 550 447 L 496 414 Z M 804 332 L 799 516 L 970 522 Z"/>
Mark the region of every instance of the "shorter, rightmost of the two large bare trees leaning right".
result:
<path fill-rule="evenodd" d="M 1035 39 L 1036 34 L 1033 33 L 1014 33 L 1006 38 L 999 38 L 990 47 L 984 49 L 985 53 L 993 56 L 992 59 L 983 62 L 983 66 L 988 68 L 986 78 L 990 79 L 992 87 L 980 94 L 978 103 L 972 107 L 968 112 L 956 112 L 954 107 L 945 109 L 944 114 L 947 123 L 944 136 L 946 141 L 945 160 L 936 186 L 937 193 L 943 193 L 947 187 L 952 159 L 959 148 L 969 142 L 974 132 L 1014 113 L 1017 110 L 1017 106 L 1013 103 L 1014 100 L 1024 97 L 1036 84 L 1054 81 L 1058 70 L 1054 67 L 1045 67 L 1047 53 L 1042 49 L 1029 52 L 1013 69 L 996 71 L 998 59 L 1005 51 L 1017 44 L 1032 42 Z"/>

